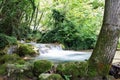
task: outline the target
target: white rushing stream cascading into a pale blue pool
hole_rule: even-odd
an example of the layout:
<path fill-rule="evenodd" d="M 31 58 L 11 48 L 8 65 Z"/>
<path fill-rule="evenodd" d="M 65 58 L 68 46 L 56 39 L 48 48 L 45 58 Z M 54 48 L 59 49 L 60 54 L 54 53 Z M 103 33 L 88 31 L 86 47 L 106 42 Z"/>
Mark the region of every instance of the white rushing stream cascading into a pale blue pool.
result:
<path fill-rule="evenodd" d="M 38 44 L 28 43 L 35 46 L 40 55 L 35 59 L 50 60 L 53 62 L 69 62 L 69 61 L 84 61 L 88 60 L 91 52 L 80 52 L 73 50 L 63 50 L 59 44 Z"/>

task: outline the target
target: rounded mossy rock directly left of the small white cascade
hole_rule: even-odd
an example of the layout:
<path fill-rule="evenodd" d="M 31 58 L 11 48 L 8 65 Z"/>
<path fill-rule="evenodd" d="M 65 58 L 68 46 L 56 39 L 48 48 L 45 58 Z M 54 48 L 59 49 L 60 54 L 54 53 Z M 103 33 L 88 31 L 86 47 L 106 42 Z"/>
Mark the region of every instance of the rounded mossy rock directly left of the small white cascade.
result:
<path fill-rule="evenodd" d="M 37 53 L 33 50 L 33 46 L 32 45 L 19 44 L 19 47 L 17 49 L 17 54 L 20 57 L 24 57 L 26 55 L 35 56 Z"/>

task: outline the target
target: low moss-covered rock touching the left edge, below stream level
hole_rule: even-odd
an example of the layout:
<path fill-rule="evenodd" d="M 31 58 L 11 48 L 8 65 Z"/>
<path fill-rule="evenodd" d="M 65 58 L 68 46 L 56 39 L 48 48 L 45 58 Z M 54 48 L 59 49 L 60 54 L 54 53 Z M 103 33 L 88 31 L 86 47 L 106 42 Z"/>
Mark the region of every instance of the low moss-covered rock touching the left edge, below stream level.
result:
<path fill-rule="evenodd" d="M 14 63 L 21 58 L 17 54 L 5 54 L 0 58 L 0 64 Z"/>

